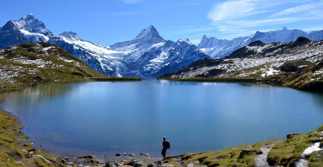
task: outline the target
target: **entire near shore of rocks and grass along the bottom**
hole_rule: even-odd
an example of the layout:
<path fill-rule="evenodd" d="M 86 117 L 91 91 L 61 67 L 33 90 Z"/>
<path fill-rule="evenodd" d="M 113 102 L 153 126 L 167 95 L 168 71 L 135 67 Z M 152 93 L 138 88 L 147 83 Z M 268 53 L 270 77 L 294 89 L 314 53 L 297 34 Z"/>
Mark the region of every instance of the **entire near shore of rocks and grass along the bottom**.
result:
<path fill-rule="evenodd" d="M 0 102 L 2 101 L 3 99 L 0 98 Z M 153 158 L 149 153 L 139 155 L 116 153 L 115 157 L 111 158 L 89 154 L 57 155 L 48 150 L 39 150 L 33 147 L 36 143 L 29 141 L 20 131 L 23 125 L 16 115 L 1 109 L 0 114 L 0 166 L 2 163 L 11 163 L 12 165 L 9 166 L 15 167 L 301 167 L 297 166 L 298 164 L 316 167 L 323 165 L 323 149 L 321 149 L 323 125 L 306 134 L 288 134 L 285 140 L 275 139 L 218 151 L 167 156 L 165 159 Z M 319 143 L 318 146 L 317 143 Z"/>

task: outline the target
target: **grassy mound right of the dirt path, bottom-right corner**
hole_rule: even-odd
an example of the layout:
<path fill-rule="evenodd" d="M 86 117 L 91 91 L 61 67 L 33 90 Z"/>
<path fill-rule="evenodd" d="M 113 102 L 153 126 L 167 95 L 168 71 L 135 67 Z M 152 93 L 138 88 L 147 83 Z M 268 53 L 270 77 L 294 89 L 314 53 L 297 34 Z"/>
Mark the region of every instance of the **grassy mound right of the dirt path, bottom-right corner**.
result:
<path fill-rule="evenodd" d="M 323 125 L 313 132 L 298 134 L 290 139 L 277 143 L 275 147 L 269 151 L 268 161 L 271 164 L 283 165 L 286 167 L 293 166 L 293 163 L 298 160 L 301 153 L 304 152 L 307 147 L 313 145 L 314 140 L 323 136 L 321 131 L 323 131 Z M 314 155 L 311 154 L 309 157 L 311 156 Z"/>

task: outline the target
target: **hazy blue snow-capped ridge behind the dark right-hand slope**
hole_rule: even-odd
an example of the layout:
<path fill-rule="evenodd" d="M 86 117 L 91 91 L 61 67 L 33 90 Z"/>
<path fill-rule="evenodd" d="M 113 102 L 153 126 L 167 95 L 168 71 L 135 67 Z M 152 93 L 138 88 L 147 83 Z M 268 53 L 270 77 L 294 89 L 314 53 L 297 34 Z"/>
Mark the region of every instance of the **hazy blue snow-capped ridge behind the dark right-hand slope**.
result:
<path fill-rule="evenodd" d="M 257 31 L 249 37 L 238 37 L 232 40 L 217 39 L 204 35 L 198 47 L 203 50 L 205 54 L 213 58 L 223 58 L 230 55 L 235 50 L 257 40 L 269 44 L 272 42 L 291 42 L 295 41 L 298 37 L 307 37 L 312 41 L 320 41 L 323 39 L 323 30 L 307 33 L 298 29 L 290 30 L 286 27 L 282 27 L 281 29 L 268 32 Z"/>

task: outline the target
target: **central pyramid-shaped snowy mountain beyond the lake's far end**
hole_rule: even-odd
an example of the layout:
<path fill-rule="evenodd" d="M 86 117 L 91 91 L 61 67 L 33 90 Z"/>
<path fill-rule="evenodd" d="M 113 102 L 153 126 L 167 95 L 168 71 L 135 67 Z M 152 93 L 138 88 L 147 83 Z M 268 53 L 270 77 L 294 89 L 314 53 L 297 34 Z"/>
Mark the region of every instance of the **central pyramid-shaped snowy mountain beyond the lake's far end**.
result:
<path fill-rule="evenodd" d="M 209 57 L 188 39 L 164 40 L 154 26 L 143 29 L 134 39 L 110 47 L 125 54 L 126 70 L 121 72 L 122 76 L 155 78 Z"/>

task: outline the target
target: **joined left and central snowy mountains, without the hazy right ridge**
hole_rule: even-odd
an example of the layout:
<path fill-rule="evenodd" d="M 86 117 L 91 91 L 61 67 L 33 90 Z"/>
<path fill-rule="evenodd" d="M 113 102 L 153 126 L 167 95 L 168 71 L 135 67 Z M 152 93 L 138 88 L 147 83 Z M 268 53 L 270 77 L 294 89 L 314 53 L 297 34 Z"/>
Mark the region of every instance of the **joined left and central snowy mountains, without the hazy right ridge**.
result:
<path fill-rule="evenodd" d="M 32 14 L 8 21 L 0 29 L 0 48 L 28 42 L 57 45 L 96 71 L 117 77 L 154 78 L 209 57 L 188 39 L 166 41 L 154 26 L 143 29 L 134 39 L 110 47 L 82 40 L 74 32 L 55 35 Z"/>

